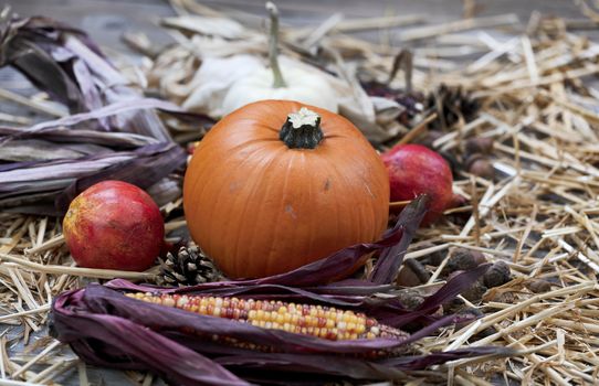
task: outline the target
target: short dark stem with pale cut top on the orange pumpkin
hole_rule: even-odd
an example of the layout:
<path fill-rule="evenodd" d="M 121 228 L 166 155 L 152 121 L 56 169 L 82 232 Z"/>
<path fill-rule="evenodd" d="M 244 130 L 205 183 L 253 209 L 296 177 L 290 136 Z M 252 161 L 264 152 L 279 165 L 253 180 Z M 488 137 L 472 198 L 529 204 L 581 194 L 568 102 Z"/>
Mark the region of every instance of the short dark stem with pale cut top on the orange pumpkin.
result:
<path fill-rule="evenodd" d="M 290 114 L 279 133 L 290 149 L 316 149 L 323 137 L 320 116 L 305 107 Z"/>

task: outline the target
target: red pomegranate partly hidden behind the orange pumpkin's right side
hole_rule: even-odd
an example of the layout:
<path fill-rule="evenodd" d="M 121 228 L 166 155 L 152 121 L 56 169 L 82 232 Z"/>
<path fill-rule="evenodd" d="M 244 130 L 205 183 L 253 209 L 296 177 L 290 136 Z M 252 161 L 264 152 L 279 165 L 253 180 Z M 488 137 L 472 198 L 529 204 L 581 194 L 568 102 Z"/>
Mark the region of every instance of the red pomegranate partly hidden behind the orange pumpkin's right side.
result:
<path fill-rule="evenodd" d="M 391 202 L 429 195 L 422 225 L 435 222 L 454 203 L 451 169 L 438 152 L 420 144 L 398 144 L 381 158 L 389 171 Z"/>

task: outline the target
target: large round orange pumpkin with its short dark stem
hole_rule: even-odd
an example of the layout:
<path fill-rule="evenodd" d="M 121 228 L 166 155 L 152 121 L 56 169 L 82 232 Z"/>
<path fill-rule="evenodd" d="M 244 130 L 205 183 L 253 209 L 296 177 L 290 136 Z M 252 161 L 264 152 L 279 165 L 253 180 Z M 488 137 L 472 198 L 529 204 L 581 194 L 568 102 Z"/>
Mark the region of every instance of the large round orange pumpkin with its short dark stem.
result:
<path fill-rule="evenodd" d="M 183 184 L 193 240 L 231 278 L 290 271 L 374 242 L 388 205 L 387 170 L 361 132 L 291 100 L 253 103 L 220 120 Z"/>

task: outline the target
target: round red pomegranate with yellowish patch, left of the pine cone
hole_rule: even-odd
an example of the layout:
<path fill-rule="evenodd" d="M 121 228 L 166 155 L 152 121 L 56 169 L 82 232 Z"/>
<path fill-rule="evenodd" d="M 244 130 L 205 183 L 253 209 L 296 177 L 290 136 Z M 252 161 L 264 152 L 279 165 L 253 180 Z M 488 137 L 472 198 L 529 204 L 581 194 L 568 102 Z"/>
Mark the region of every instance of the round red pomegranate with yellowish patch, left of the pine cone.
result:
<path fill-rule="evenodd" d="M 73 200 L 63 233 L 81 267 L 143 271 L 160 253 L 165 223 L 156 203 L 141 189 L 104 181 Z"/>

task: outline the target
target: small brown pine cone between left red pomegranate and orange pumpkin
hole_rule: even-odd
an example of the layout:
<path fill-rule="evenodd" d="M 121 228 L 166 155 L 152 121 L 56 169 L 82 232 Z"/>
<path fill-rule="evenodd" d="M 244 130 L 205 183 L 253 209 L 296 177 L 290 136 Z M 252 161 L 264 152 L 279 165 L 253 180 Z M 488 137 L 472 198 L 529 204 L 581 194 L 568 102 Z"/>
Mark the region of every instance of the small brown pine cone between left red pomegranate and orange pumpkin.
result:
<path fill-rule="evenodd" d="M 160 275 L 156 282 L 159 286 L 193 286 L 203 282 L 219 281 L 224 277 L 214 264 L 198 247 L 181 247 L 177 255 L 167 254 L 160 261 Z"/>

